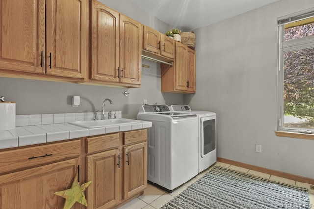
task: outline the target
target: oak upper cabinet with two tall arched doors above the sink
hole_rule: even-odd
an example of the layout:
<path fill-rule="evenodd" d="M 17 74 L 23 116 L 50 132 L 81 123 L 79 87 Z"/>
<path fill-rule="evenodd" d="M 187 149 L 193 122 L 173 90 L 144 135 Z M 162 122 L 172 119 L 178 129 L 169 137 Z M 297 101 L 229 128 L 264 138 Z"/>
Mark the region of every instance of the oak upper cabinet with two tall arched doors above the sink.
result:
<path fill-rule="evenodd" d="M 142 24 L 91 1 L 91 82 L 139 87 Z"/>

